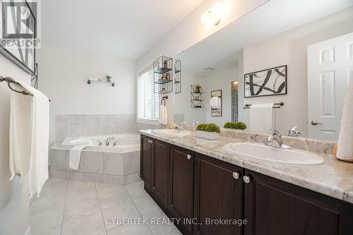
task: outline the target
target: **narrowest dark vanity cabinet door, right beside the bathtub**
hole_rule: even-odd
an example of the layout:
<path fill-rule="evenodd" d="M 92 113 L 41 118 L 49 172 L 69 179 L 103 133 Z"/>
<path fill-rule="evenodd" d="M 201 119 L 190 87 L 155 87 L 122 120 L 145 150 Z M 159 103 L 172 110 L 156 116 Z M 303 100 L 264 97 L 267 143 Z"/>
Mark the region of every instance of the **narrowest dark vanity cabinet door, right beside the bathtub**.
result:
<path fill-rule="evenodd" d="M 152 139 L 141 135 L 140 142 L 140 178 L 148 186 L 152 183 Z"/>

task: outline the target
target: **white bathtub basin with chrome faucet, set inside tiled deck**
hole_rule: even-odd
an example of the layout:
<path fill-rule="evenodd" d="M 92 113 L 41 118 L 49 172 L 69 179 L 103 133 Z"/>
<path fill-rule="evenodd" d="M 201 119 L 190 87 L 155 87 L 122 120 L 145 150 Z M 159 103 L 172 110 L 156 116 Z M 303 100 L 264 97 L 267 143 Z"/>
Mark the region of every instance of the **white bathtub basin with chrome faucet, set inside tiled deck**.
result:
<path fill-rule="evenodd" d="M 105 146 L 107 138 L 113 137 L 114 139 L 110 140 L 109 146 Z M 102 145 L 99 146 L 99 141 L 102 142 Z M 113 143 L 116 143 L 116 146 L 113 147 Z M 95 150 L 102 152 L 133 152 L 140 150 L 140 135 L 137 134 L 118 134 L 118 135 L 95 135 L 95 136 L 86 136 L 86 137 L 67 137 L 61 143 L 63 147 L 73 147 L 75 145 L 84 145 L 87 144 L 87 150 Z"/>

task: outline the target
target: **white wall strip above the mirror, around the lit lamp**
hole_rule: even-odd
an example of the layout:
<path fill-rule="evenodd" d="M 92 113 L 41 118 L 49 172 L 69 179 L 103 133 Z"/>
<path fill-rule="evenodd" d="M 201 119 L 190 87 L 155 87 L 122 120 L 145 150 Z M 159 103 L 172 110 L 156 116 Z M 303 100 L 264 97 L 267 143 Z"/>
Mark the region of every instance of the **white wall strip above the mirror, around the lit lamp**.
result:
<path fill-rule="evenodd" d="M 225 28 L 225 26 L 246 15 L 253 9 L 265 4 L 268 0 L 223 0 L 225 13 L 218 25 L 207 27 L 201 25 L 200 17 L 208 9 L 213 6 L 217 0 L 205 0 L 189 16 L 187 16 L 177 27 L 169 32 L 164 39 L 152 47 L 137 61 L 137 71 L 142 70 L 146 66 L 163 54 L 175 58 L 177 54 L 191 47 L 193 44 L 200 42 L 213 33 Z M 169 121 L 174 119 L 174 93 L 168 94 L 167 100 Z"/>

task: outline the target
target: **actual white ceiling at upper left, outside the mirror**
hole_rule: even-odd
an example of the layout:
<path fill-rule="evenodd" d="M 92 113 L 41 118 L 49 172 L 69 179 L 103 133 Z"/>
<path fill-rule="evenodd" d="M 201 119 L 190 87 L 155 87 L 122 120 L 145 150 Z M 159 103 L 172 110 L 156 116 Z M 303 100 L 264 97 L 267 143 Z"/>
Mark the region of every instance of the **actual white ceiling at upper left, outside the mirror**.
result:
<path fill-rule="evenodd" d="M 203 0 L 44 0 L 42 42 L 138 59 Z"/>

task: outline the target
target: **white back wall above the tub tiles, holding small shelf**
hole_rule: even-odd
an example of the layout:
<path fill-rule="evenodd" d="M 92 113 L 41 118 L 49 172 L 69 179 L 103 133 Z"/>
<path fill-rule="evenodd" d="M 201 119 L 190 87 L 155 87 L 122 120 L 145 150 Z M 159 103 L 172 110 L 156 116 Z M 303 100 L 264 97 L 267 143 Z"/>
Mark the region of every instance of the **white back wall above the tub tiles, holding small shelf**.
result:
<path fill-rule="evenodd" d="M 136 114 L 136 63 L 42 44 L 37 52 L 39 88 L 50 103 L 50 137 L 55 140 L 56 114 Z M 88 78 L 112 76 L 109 83 Z"/>

